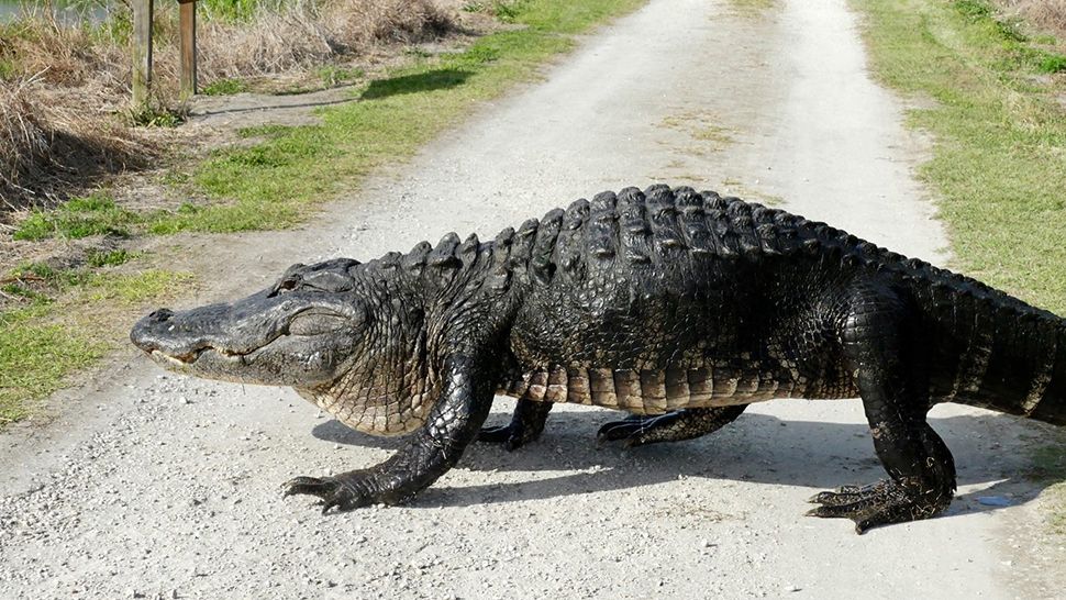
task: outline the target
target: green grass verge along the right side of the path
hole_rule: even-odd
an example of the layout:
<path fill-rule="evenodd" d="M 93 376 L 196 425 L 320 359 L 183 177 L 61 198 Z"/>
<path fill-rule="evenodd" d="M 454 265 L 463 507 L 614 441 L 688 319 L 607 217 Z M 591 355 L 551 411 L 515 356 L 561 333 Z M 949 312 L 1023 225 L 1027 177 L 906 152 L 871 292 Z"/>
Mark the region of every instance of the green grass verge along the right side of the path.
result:
<path fill-rule="evenodd" d="M 921 177 L 939 197 L 957 267 L 1066 314 L 1063 84 L 987 2 L 866 0 L 875 74 L 933 105 L 908 113 L 933 135 Z M 929 104 L 929 102 L 925 102 Z"/>

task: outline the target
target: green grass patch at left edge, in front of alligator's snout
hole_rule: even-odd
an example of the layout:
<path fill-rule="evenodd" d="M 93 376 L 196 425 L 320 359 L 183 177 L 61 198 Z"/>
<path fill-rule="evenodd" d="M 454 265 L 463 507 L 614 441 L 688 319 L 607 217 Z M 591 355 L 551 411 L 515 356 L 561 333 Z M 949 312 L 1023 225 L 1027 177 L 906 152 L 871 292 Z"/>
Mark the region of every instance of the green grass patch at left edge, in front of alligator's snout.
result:
<path fill-rule="evenodd" d="M 174 297 L 192 281 L 188 274 L 156 269 L 119 275 L 41 264 L 11 274 L 15 280 L 27 275 L 44 279 L 49 293 L 34 291 L 25 308 L 0 312 L 0 426 L 31 415 L 67 377 L 122 344 L 118 332 L 127 330 L 140 307 Z"/>

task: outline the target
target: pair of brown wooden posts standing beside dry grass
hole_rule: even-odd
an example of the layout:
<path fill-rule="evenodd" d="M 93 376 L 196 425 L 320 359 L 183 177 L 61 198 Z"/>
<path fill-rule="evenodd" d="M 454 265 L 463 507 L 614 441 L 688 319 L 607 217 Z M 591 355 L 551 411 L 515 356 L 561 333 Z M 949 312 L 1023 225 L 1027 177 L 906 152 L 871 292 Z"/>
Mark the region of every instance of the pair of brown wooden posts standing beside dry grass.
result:
<path fill-rule="evenodd" d="M 197 92 L 196 1 L 178 0 L 180 31 L 180 97 L 192 98 Z M 133 3 L 133 104 L 147 104 L 152 96 L 152 13 L 154 0 L 132 0 Z"/>

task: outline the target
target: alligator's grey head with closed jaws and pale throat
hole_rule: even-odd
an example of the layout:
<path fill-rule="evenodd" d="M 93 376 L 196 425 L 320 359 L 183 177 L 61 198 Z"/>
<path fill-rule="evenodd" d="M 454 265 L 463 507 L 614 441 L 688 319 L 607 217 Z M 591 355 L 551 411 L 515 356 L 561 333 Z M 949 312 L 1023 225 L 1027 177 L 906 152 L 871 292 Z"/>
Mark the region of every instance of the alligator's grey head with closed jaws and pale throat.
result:
<path fill-rule="evenodd" d="M 130 338 L 170 370 L 291 386 L 349 426 L 406 433 L 430 408 L 422 312 L 364 267 L 295 265 L 233 303 L 157 310 Z"/>

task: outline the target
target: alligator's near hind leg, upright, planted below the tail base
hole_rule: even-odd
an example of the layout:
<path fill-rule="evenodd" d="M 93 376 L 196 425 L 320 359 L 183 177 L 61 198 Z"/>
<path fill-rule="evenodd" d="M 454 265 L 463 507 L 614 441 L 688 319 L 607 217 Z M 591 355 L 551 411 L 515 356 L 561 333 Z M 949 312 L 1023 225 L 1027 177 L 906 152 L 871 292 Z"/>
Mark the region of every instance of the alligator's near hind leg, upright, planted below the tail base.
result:
<path fill-rule="evenodd" d="M 845 486 L 811 499 L 808 514 L 847 518 L 870 527 L 940 514 L 955 491 L 951 452 L 925 422 L 930 408 L 928 362 L 919 321 L 890 290 L 866 290 L 853 300 L 844 354 L 857 373 L 859 395 L 878 458 L 890 479 Z"/>

